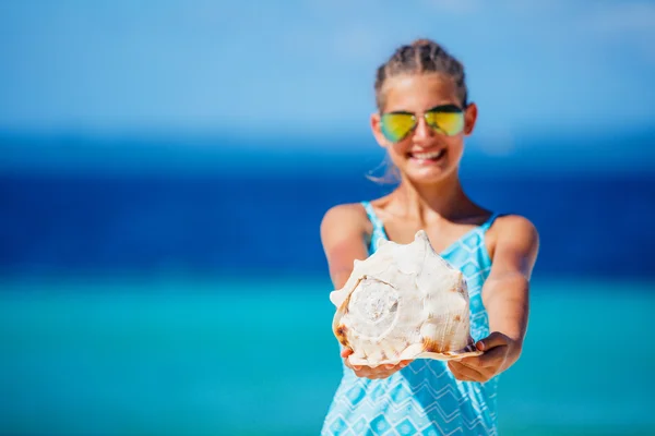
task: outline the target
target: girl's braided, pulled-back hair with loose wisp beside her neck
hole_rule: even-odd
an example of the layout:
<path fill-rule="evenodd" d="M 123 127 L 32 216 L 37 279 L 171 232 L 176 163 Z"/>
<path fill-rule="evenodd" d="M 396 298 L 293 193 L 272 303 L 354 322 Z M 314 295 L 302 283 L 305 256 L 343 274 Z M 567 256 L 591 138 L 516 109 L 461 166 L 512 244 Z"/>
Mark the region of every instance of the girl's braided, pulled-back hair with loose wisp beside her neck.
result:
<path fill-rule="evenodd" d="M 384 110 L 384 84 L 388 78 L 404 74 L 422 73 L 437 73 L 451 77 L 457 87 L 460 102 L 463 107 L 468 105 L 464 65 L 433 40 L 416 39 L 408 46 L 398 47 L 391 58 L 378 68 L 376 75 L 376 105 L 378 110 L 380 112 Z M 373 177 L 373 170 L 367 178 L 378 183 L 397 183 L 400 181 L 398 170 L 391 162 L 389 155 L 385 156 L 384 161 L 378 168 L 381 167 L 386 167 L 382 177 Z"/>

